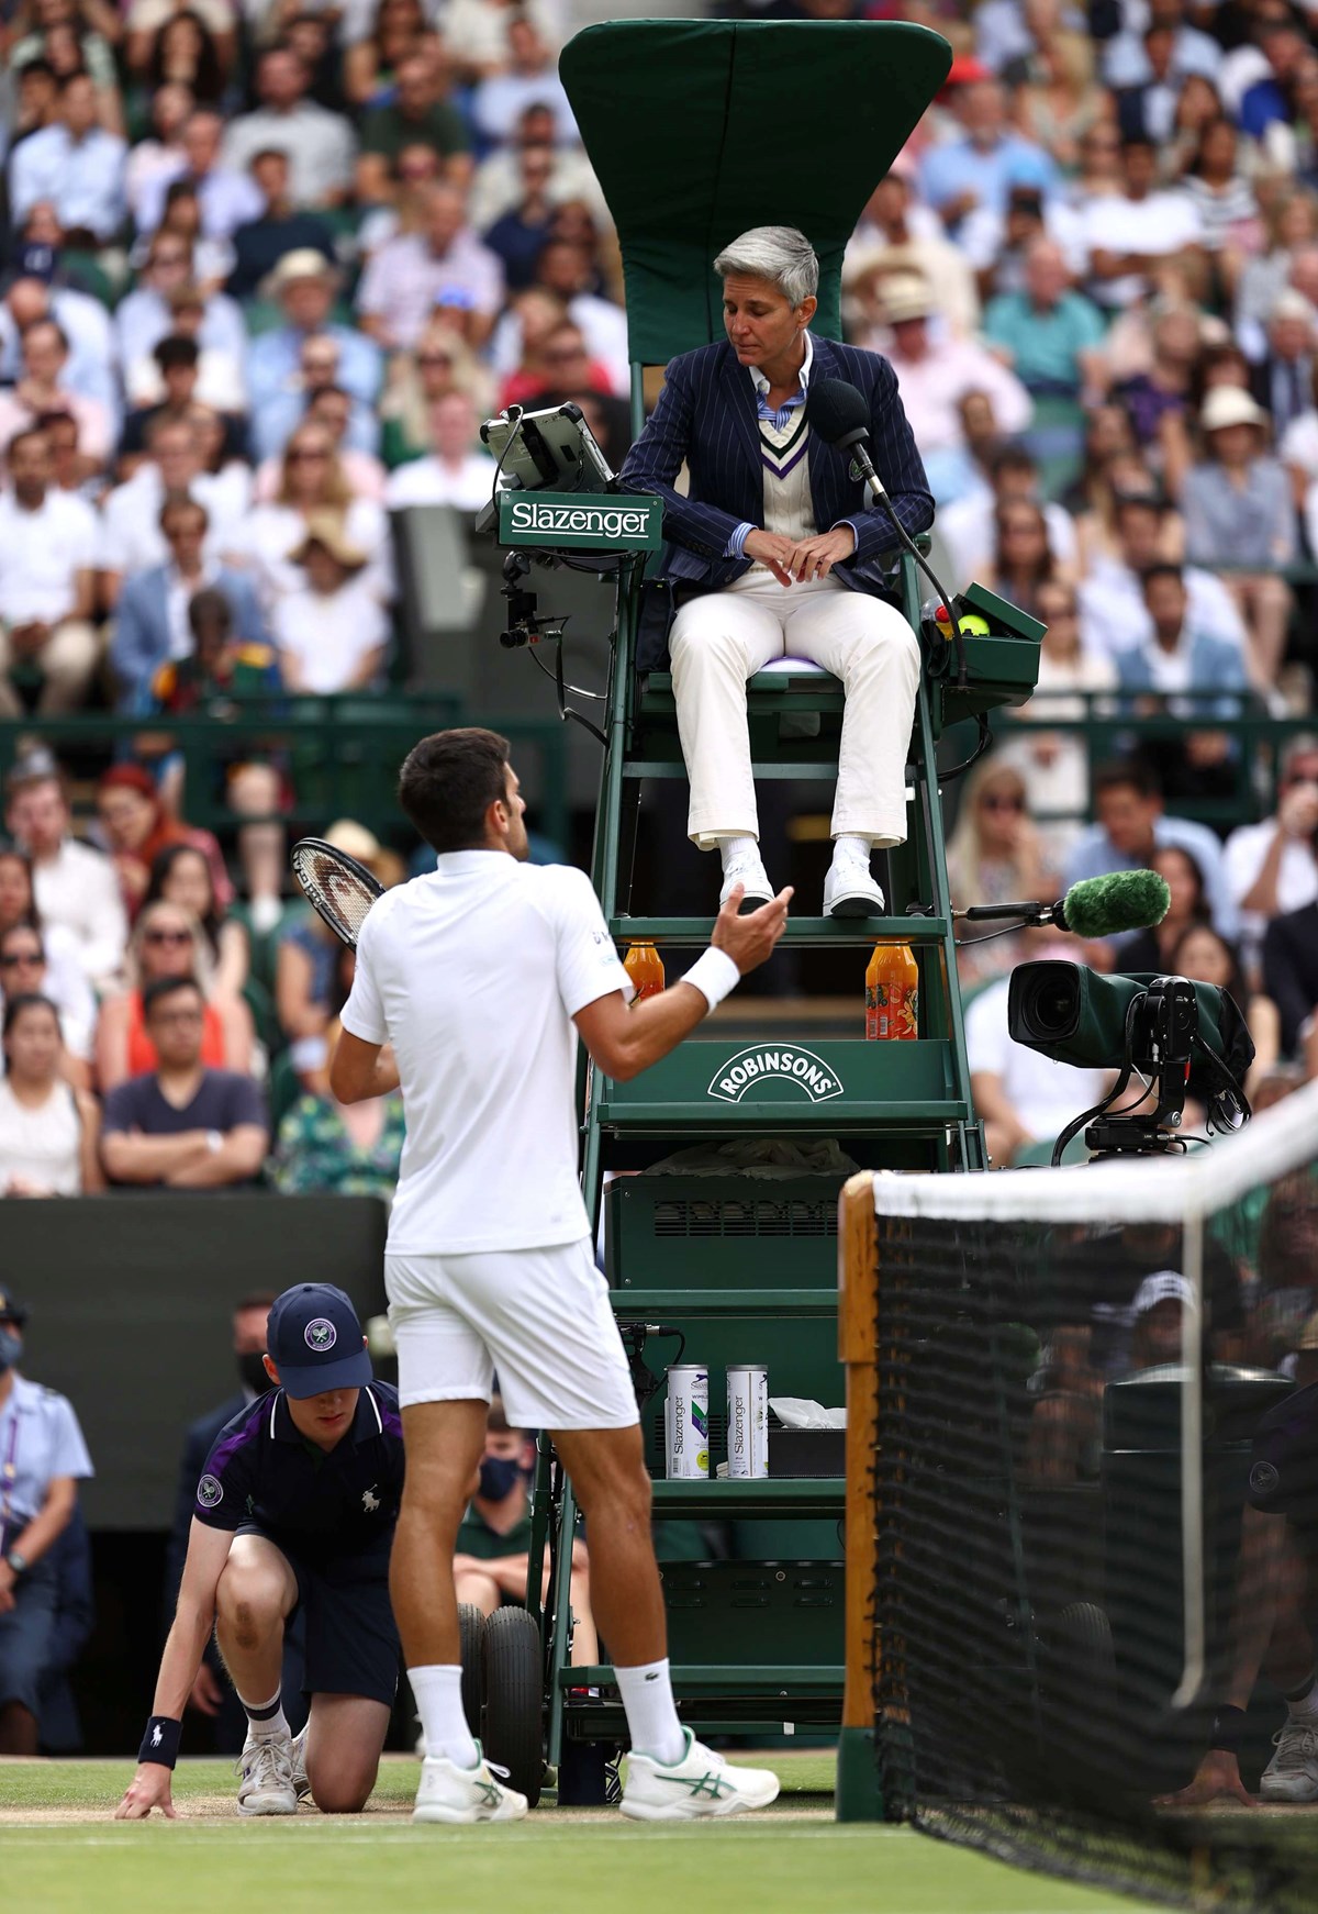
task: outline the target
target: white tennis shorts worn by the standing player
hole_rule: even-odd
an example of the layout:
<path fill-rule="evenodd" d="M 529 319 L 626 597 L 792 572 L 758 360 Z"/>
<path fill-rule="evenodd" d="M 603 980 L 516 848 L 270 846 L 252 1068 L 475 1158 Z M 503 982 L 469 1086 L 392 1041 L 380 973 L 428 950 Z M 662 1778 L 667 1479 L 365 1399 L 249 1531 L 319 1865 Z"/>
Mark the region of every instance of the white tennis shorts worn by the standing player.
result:
<path fill-rule="evenodd" d="M 490 1401 L 497 1372 L 513 1428 L 641 1420 L 589 1236 L 553 1250 L 386 1256 L 384 1290 L 404 1409 Z"/>

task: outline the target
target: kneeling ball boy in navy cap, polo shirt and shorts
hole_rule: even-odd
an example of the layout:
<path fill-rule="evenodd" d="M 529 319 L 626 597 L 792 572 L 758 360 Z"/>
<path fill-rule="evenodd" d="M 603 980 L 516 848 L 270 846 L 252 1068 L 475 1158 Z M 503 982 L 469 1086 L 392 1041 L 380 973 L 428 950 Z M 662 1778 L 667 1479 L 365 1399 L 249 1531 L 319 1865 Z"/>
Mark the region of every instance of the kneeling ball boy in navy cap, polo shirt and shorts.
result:
<path fill-rule="evenodd" d="M 138 1772 L 117 1820 L 174 1818 L 184 1703 L 216 1627 L 247 1711 L 239 1814 L 297 1814 L 306 1793 L 356 1814 L 375 1786 L 398 1682 L 388 1550 L 404 1483 L 398 1393 L 371 1380 L 356 1309 L 329 1282 L 275 1298 L 275 1384 L 224 1426 L 197 1483 L 174 1627 Z M 281 1698 L 283 1631 L 306 1621 L 312 1711 L 297 1738 Z"/>

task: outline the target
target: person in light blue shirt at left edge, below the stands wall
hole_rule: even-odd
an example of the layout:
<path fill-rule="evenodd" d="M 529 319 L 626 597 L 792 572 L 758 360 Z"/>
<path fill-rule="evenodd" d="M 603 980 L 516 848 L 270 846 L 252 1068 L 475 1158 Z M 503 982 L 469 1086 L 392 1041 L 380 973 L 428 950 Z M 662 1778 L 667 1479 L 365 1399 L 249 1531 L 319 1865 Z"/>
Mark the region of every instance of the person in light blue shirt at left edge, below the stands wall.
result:
<path fill-rule="evenodd" d="M 73 1405 L 19 1376 L 23 1309 L 0 1288 L 0 1755 L 36 1753 L 59 1579 L 54 1545 L 94 1474 Z"/>

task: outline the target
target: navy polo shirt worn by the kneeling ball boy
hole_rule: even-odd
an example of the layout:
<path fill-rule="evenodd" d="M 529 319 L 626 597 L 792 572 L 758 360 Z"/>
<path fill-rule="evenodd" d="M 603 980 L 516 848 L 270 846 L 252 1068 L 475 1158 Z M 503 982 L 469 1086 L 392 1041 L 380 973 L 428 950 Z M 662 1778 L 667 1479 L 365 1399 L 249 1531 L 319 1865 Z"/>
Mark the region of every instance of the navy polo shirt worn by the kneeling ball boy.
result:
<path fill-rule="evenodd" d="M 216 1436 L 193 1514 L 210 1529 L 264 1529 L 308 1558 L 386 1548 L 404 1487 L 398 1390 L 367 1382 L 333 1449 L 300 1436 L 283 1390 L 241 1409 Z"/>

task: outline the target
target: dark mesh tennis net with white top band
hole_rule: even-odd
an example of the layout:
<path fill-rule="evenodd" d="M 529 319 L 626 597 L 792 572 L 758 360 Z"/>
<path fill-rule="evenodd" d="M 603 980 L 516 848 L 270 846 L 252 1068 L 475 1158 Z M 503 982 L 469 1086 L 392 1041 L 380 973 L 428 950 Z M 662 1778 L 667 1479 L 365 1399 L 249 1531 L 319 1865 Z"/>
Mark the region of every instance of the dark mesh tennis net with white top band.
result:
<path fill-rule="evenodd" d="M 1171 1903 L 1312 1910 L 1318 1085 L 1190 1158 L 876 1173 L 844 1210 L 884 1813 Z M 1253 1809 L 1217 1792 L 1219 1742 Z"/>

